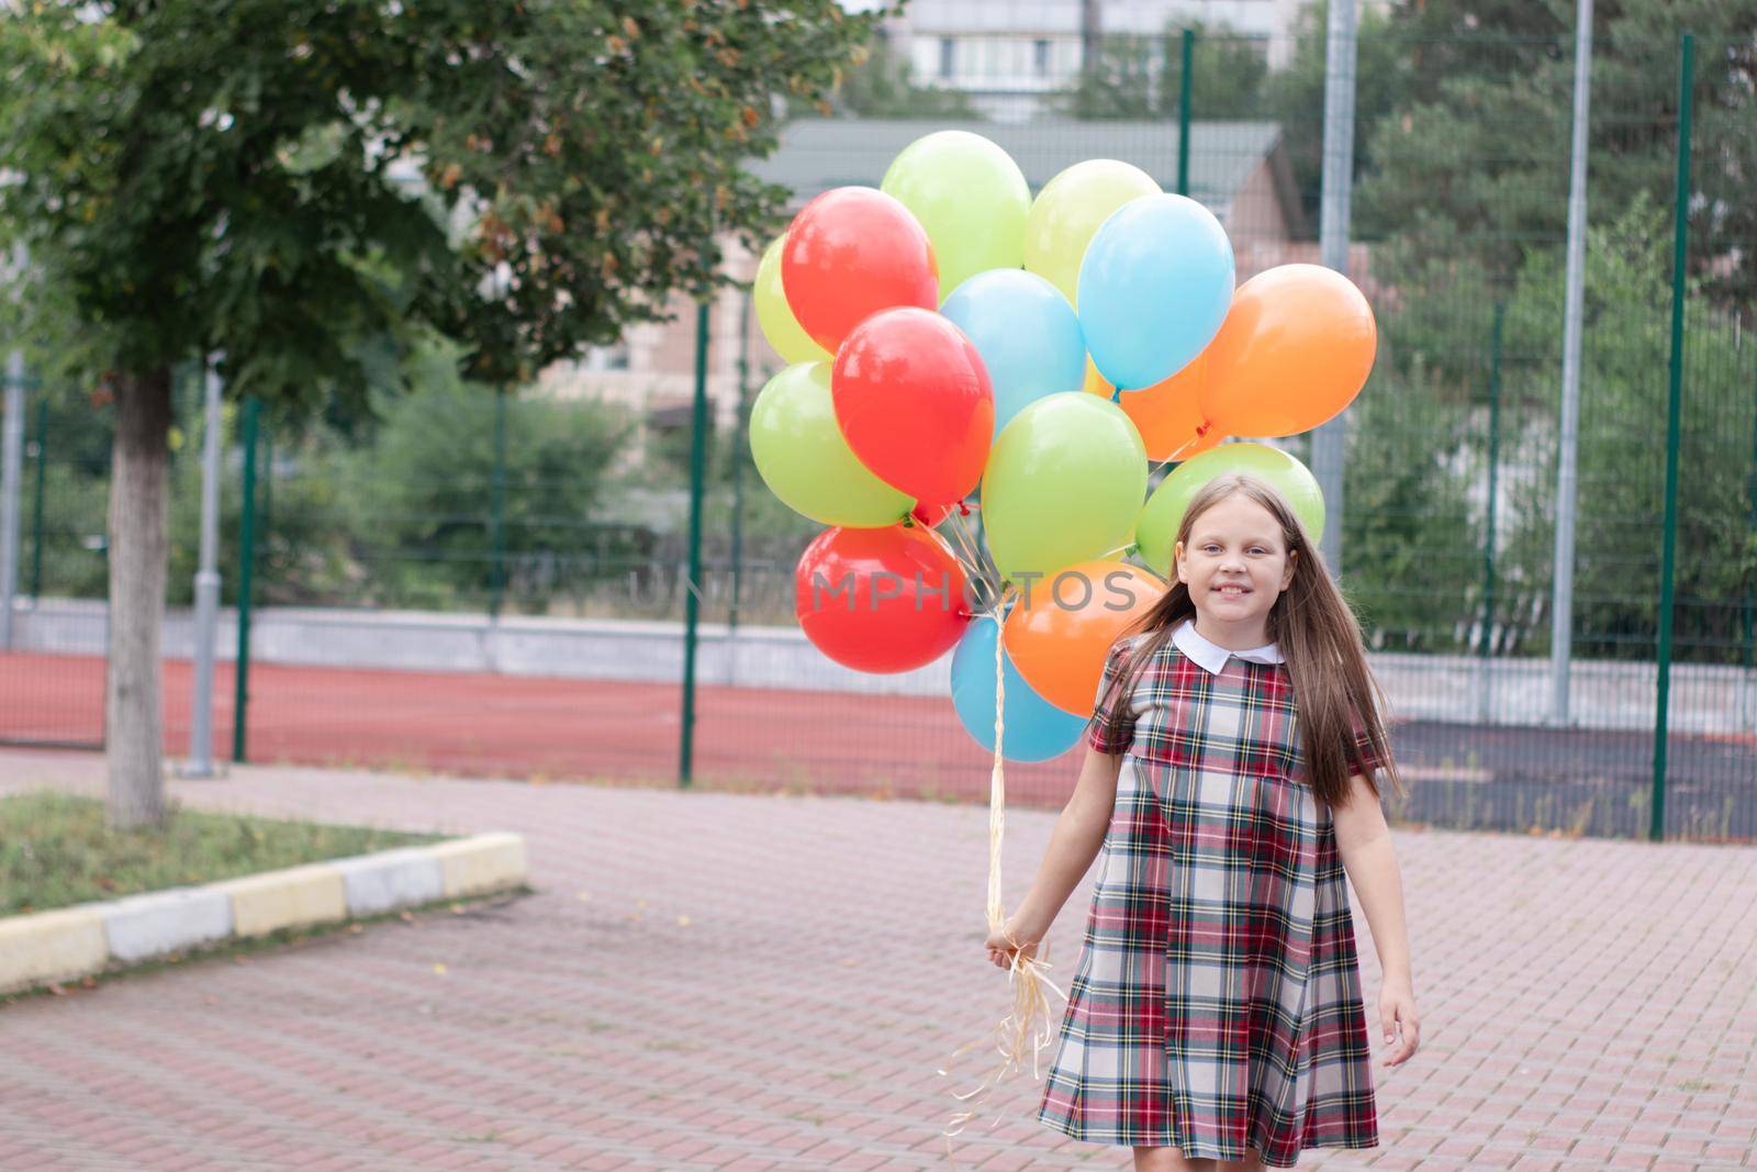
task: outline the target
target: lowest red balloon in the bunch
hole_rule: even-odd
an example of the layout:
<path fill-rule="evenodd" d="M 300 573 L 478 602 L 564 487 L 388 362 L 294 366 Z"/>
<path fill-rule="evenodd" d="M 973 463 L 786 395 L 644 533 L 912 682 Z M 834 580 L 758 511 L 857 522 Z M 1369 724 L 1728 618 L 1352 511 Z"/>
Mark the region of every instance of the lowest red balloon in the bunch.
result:
<path fill-rule="evenodd" d="M 812 645 L 859 671 L 908 671 L 958 645 L 965 571 L 931 529 L 817 534 L 794 569 L 794 613 Z"/>

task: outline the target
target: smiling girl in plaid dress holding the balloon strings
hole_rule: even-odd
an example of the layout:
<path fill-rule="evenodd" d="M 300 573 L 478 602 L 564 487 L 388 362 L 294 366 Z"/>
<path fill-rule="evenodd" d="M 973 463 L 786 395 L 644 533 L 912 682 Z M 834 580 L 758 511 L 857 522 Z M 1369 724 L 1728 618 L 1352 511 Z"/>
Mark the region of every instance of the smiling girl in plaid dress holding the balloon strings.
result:
<path fill-rule="evenodd" d="M 1420 1024 L 1402 880 L 1374 773 L 1406 792 L 1360 627 L 1288 503 L 1204 487 L 1177 582 L 1110 648 L 1074 796 L 1030 893 L 987 938 L 1037 952 L 1103 850 L 1037 1118 L 1130 1144 L 1135 1168 L 1295 1167 L 1376 1147 L 1344 872 L 1385 980 L 1385 1065 Z"/>

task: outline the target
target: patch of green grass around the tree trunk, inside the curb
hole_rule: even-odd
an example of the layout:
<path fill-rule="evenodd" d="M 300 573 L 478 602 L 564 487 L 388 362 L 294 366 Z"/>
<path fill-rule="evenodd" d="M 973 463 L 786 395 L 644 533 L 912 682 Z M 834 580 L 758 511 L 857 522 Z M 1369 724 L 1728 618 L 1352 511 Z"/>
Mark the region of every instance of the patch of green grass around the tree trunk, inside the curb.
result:
<path fill-rule="evenodd" d="M 0 915 L 237 879 L 443 835 L 322 826 L 172 803 L 162 831 L 112 833 L 104 803 L 56 791 L 0 798 Z"/>

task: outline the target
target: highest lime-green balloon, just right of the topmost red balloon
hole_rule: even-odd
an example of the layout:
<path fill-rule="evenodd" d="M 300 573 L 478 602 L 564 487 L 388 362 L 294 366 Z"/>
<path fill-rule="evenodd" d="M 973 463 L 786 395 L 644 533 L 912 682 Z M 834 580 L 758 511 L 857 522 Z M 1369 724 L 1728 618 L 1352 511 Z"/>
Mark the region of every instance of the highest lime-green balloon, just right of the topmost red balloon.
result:
<path fill-rule="evenodd" d="M 891 160 L 878 190 L 896 197 L 928 232 L 940 300 L 986 269 L 1024 264 L 1031 186 L 1001 148 L 968 130 L 936 130 Z"/>

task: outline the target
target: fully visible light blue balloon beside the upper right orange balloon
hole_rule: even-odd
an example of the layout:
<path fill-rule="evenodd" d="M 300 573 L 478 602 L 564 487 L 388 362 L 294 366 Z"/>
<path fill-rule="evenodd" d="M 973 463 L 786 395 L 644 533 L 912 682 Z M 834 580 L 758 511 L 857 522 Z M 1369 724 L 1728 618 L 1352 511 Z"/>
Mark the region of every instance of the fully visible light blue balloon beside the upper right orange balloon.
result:
<path fill-rule="evenodd" d="M 1079 318 L 1112 387 L 1153 387 L 1202 353 L 1232 306 L 1232 242 L 1202 204 L 1142 195 L 1098 225 L 1081 262 Z"/>

